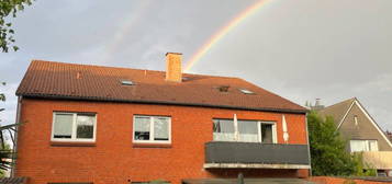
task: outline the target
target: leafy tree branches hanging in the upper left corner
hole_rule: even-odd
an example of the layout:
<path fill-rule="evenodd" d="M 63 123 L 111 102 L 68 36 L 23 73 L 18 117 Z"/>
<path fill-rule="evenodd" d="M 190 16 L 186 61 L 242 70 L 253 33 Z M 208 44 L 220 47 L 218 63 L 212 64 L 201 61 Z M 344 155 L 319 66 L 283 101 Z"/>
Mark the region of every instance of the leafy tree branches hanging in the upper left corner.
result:
<path fill-rule="evenodd" d="M 26 5 L 31 5 L 32 0 L 1 0 L 0 1 L 0 49 L 8 53 L 12 47 L 14 51 L 19 48 L 14 45 L 13 38 L 14 30 L 12 23 L 9 22 L 9 15 L 16 16 L 18 11 L 24 10 Z"/>

